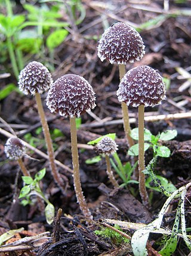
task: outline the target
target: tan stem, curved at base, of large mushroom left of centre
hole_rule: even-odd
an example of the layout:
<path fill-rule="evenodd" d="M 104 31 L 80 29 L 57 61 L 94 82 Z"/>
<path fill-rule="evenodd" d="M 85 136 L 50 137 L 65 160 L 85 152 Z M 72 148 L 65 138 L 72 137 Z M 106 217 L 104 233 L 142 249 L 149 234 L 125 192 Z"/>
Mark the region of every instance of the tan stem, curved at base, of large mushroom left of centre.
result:
<path fill-rule="evenodd" d="M 93 219 L 90 210 L 88 209 L 87 203 L 85 201 L 81 181 L 79 176 L 79 156 L 78 156 L 78 141 L 77 141 L 77 131 L 76 131 L 76 118 L 70 117 L 70 133 L 71 133 L 71 150 L 72 150 L 72 163 L 73 163 L 73 184 L 76 192 L 76 198 L 79 203 L 79 207 L 87 218 Z"/>

